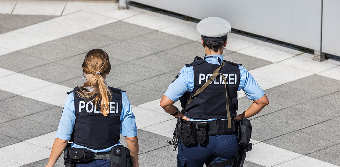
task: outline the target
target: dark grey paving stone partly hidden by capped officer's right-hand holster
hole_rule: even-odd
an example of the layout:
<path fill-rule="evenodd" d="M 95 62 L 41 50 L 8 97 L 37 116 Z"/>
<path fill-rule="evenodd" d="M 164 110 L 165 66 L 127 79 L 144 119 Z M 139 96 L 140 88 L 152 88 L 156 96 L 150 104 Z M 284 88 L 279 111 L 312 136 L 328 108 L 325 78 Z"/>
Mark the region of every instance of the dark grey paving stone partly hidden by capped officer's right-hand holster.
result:
<path fill-rule="evenodd" d="M 269 123 L 266 119 L 262 119 L 262 117 L 251 120 L 251 123 L 252 139 L 258 141 L 268 140 L 293 131 L 292 129 L 285 128 L 282 125 Z"/>

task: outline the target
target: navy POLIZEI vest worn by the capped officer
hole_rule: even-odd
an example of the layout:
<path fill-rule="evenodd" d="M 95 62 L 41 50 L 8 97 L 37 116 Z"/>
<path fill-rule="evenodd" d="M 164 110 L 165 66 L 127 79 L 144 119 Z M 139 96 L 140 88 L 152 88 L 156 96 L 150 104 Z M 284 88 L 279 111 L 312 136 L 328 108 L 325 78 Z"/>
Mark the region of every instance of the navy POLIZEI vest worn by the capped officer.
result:
<path fill-rule="evenodd" d="M 228 103 L 231 118 L 235 118 L 238 110 L 237 89 L 240 84 L 240 69 L 238 64 L 225 61 L 226 64 L 220 69 L 226 79 Z M 211 74 L 220 65 L 211 64 L 205 60 L 195 61 L 186 65 L 193 67 L 194 89 L 190 92 L 189 97 L 193 96 L 195 92 L 202 87 Z M 214 82 L 206 87 L 198 96 L 184 108 L 186 116 L 193 119 L 211 119 L 221 118 L 227 119 L 226 111 L 226 96 L 224 80 L 219 75 Z"/>

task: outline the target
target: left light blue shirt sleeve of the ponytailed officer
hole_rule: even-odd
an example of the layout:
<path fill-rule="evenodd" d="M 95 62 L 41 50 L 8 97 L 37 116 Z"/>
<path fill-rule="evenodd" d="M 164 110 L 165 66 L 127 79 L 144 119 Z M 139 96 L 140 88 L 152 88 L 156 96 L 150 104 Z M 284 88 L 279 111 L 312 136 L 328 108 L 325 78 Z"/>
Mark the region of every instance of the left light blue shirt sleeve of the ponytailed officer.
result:
<path fill-rule="evenodd" d="M 70 93 L 65 101 L 63 113 L 60 118 L 59 126 L 55 137 L 62 140 L 70 140 L 75 122 L 74 97 Z"/>

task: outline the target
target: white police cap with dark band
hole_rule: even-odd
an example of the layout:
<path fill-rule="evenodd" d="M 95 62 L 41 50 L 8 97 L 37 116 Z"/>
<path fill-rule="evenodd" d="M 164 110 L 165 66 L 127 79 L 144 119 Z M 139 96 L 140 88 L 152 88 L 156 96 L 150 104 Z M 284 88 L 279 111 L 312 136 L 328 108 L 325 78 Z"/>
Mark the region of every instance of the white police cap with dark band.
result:
<path fill-rule="evenodd" d="M 232 26 L 222 18 L 208 17 L 201 20 L 196 29 L 204 40 L 221 41 L 227 38 L 227 34 L 232 31 Z"/>

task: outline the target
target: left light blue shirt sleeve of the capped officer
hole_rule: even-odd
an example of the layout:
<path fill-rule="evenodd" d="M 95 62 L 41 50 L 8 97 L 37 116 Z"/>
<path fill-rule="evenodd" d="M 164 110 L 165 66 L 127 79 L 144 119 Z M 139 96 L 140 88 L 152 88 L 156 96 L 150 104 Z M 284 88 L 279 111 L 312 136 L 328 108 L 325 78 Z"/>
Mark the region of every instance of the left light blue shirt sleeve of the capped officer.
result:
<path fill-rule="evenodd" d="M 193 85 L 192 66 L 183 67 L 164 95 L 172 101 L 177 101 L 186 91 L 193 91 Z"/>

